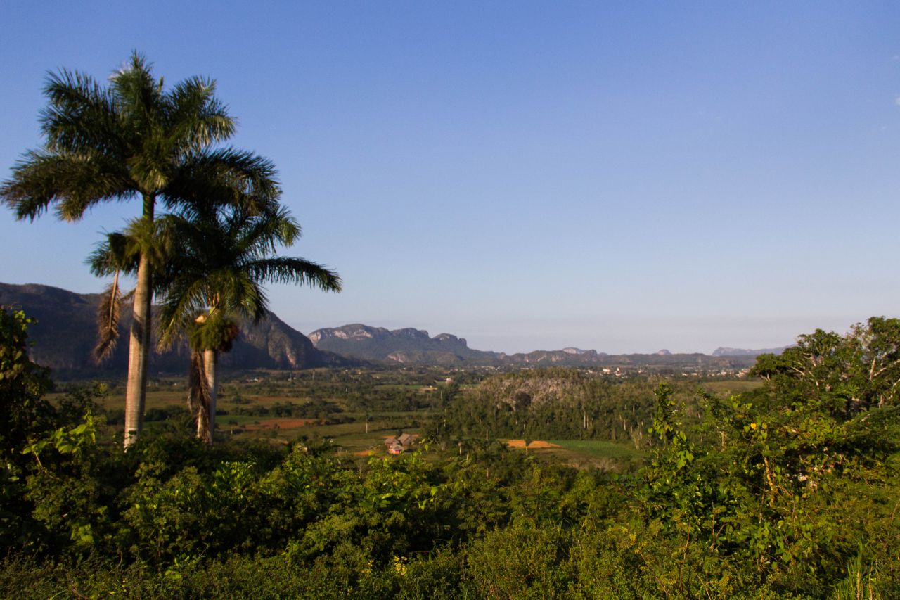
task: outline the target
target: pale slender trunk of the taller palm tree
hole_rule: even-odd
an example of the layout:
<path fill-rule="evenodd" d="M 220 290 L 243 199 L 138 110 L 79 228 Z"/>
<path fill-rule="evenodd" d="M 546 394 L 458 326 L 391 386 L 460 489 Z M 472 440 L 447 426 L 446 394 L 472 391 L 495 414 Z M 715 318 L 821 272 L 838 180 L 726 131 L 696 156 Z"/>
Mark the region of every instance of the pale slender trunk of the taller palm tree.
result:
<path fill-rule="evenodd" d="M 144 195 L 145 220 L 153 222 L 156 198 Z M 134 312 L 128 347 L 128 382 L 125 387 L 125 450 L 138 441 L 144 425 L 147 400 L 147 355 L 150 347 L 150 302 L 153 299 L 153 272 L 146 253 L 138 262 L 138 282 L 134 288 Z"/>

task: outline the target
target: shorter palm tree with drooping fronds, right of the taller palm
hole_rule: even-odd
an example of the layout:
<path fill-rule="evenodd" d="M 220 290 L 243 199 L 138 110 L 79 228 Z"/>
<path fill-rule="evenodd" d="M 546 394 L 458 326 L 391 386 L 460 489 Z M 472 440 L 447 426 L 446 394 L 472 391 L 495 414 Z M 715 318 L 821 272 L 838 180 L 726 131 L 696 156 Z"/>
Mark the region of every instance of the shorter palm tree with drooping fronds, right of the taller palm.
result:
<path fill-rule="evenodd" d="M 94 270 L 135 268 L 137 223 L 115 233 L 94 253 Z M 231 349 L 238 323 L 266 316 L 264 283 L 294 283 L 339 292 L 329 268 L 300 258 L 276 256 L 300 237 L 300 226 L 284 207 L 251 214 L 241 207 L 186 210 L 157 221 L 157 238 L 168 259 L 156 258 L 159 345 L 186 339 L 191 349 L 188 405 L 197 416 L 197 437 L 212 441 L 219 354 Z"/>

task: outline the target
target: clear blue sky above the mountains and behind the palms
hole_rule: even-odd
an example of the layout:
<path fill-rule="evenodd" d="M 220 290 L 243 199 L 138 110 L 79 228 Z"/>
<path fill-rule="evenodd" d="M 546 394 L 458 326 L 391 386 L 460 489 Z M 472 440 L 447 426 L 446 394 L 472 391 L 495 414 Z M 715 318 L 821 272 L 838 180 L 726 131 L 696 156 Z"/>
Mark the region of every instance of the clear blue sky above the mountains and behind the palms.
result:
<path fill-rule="evenodd" d="M 900 4 L 0 4 L 0 177 L 49 69 L 214 77 L 362 322 L 480 350 L 768 347 L 900 299 Z M 138 214 L 0 211 L 0 281 L 99 291 Z M 5 213 L 5 214 L 3 214 Z"/>

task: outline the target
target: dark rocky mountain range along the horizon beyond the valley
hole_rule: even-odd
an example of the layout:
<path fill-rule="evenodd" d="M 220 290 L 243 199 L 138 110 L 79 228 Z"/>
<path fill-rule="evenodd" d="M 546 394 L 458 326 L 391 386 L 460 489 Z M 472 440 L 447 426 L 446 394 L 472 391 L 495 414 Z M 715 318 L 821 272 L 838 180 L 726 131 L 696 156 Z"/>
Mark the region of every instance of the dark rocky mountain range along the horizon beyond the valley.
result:
<path fill-rule="evenodd" d="M 0 305 L 21 307 L 38 321 L 29 331 L 31 357 L 53 368 L 60 377 L 96 377 L 121 374 L 127 368 L 130 310 L 123 310 L 120 341 L 112 358 L 97 366 L 91 359 L 95 340 L 95 314 L 99 294 L 76 294 L 58 287 L 0 284 Z M 222 354 L 221 366 L 236 368 L 301 369 L 355 366 L 365 362 L 388 365 L 495 366 L 495 367 L 653 367 L 653 368 L 744 368 L 769 350 L 719 348 L 713 355 L 653 354 L 610 355 L 597 350 L 565 348 L 506 354 L 469 348 L 464 338 L 450 333 L 430 337 L 417 329 L 387 330 L 361 323 L 320 329 L 307 338 L 275 314 L 261 323 L 242 323 L 230 352 Z M 187 368 L 184 345 L 150 354 L 151 373 L 181 373 Z"/>

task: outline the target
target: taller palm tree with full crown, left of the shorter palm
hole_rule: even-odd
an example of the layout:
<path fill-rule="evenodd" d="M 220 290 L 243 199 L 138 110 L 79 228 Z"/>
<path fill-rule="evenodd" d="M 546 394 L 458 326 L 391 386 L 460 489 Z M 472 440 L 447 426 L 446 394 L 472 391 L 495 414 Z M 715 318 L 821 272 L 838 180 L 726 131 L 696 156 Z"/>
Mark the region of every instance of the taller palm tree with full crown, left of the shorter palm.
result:
<path fill-rule="evenodd" d="M 214 93 L 215 82 L 203 77 L 164 89 L 137 52 L 105 88 L 78 72 L 51 73 L 40 118 L 44 145 L 14 166 L 0 199 L 20 220 L 33 221 L 52 205 L 58 218 L 77 221 L 101 202 L 139 198 L 146 231 L 152 231 L 157 200 L 170 209 L 203 205 L 209 197 L 249 203 L 251 212 L 270 209 L 280 192 L 275 170 L 252 153 L 216 146 L 235 123 Z M 142 251 L 130 331 L 126 449 L 143 423 L 152 291 L 153 269 Z"/>

